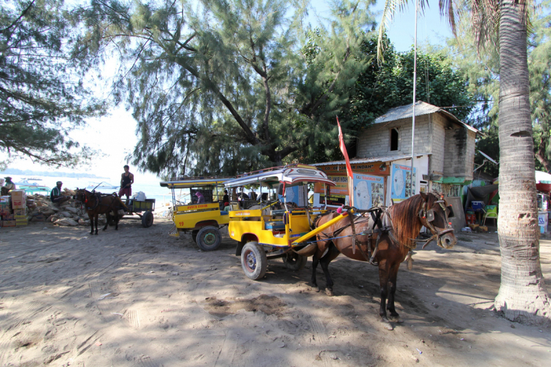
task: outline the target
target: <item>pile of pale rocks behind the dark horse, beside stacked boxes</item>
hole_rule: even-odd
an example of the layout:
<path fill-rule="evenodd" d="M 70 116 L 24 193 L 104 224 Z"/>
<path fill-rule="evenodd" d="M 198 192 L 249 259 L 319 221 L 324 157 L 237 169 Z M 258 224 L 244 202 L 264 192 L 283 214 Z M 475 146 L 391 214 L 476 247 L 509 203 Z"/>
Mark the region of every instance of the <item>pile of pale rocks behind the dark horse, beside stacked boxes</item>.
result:
<path fill-rule="evenodd" d="M 65 189 L 63 196 L 71 196 L 71 199 L 61 205 L 54 204 L 48 196 L 38 193 L 27 196 L 28 216 L 31 222 L 52 222 L 59 226 L 90 226 L 90 219 L 80 203 L 72 198 L 75 192 Z M 105 224 L 105 215 L 101 214 L 98 224 Z"/>

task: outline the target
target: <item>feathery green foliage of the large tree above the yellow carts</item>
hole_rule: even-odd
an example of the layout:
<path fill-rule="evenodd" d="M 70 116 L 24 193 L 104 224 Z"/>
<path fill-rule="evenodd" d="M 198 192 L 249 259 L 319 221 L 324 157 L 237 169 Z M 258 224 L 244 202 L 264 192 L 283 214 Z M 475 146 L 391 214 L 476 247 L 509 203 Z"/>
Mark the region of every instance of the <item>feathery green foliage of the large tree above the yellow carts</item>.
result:
<path fill-rule="evenodd" d="M 138 121 L 134 164 L 235 174 L 334 139 L 335 116 L 366 66 L 351 55 L 373 27 L 370 2 L 333 2 L 309 64 L 301 52 L 308 5 L 93 0 L 83 8 L 89 33 L 79 53 L 122 65 L 113 87 Z"/>

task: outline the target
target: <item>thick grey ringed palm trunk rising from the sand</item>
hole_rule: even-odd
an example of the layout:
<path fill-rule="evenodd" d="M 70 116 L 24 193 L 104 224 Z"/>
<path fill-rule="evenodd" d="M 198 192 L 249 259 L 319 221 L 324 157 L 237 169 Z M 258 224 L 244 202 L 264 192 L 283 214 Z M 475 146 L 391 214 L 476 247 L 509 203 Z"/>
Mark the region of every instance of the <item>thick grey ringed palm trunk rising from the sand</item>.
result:
<path fill-rule="evenodd" d="M 499 59 L 501 286 L 495 308 L 510 320 L 540 324 L 550 321 L 551 302 L 539 263 L 526 21 L 514 0 L 501 2 Z"/>

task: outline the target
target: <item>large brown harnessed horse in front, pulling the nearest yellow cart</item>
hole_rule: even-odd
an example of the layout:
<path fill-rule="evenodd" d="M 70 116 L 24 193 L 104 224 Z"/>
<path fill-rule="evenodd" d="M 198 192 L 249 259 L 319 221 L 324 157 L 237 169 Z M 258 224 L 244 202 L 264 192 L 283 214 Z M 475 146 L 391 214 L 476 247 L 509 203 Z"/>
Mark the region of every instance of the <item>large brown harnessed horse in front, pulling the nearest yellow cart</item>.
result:
<path fill-rule="evenodd" d="M 423 226 L 433 233 L 433 237 L 427 240 L 426 244 L 430 240 L 437 240 L 437 244 L 444 249 L 451 249 L 455 245 L 457 238 L 455 238 L 448 220 L 448 216 L 452 216 L 450 211 L 451 207 L 448 207 L 444 196 L 420 193 L 393 205 L 386 212 L 383 211 L 380 218 L 349 215 L 317 236 L 318 242 L 317 246 L 314 247 L 315 250 L 311 247 L 310 253 L 306 253 L 307 251 L 302 253 L 303 255 L 311 255 L 315 251 L 312 260 L 312 286 L 316 291 L 319 291 L 315 279 L 315 269 L 319 262 L 326 277 L 326 293 L 333 295 L 333 280 L 329 275 L 329 263 L 339 253 L 354 260 L 373 260 L 372 263 L 378 264 L 379 267 L 381 287 L 379 314 L 382 320 L 386 322 L 387 328 L 392 330 L 388 319 L 393 322 L 402 322 L 394 306 L 399 266 L 406 259 L 408 252 L 415 248 L 416 242 L 414 239 L 417 238 Z M 338 215 L 338 213 L 331 212 L 318 218 L 315 225 L 319 227 Z M 354 230 L 357 240 L 355 246 L 353 246 L 351 218 L 355 219 Z M 383 230 L 381 231 L 381 229 Z M 368 256 L 370 251 L 373 253 L 371 257 Z M 390 291 L 388 286 L 390 286 Z M 386 304 L 387 297 L 388 305 Z M 390 312 L 388 319 L 386 310 Z"/>

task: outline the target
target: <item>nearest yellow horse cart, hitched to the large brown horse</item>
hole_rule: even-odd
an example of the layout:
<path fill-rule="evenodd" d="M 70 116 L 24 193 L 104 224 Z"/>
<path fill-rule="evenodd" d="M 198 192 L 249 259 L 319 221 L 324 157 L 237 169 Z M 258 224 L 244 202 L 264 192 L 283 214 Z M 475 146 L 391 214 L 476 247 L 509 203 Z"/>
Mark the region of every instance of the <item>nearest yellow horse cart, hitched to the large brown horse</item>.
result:
<path fill-rule="evenodd" d="M 225 182 L 225 187 L 260 187 L 276 195 L 268 195 L 258 209 L 235 210 L 229 212 L 229 236 L 238 242 L 236 255 L 241 256 L 241 266 L 245 275 L 252 280 L 264 277 L 267 260 L 282 258 L 285 266 L 299 270 L 306 264 L 306 257 L 295 251 L 303 249 L 309 240 L 326 227 L 344 218 L 344 213 L 314 229 L 316 216 L 326 213 L 323 208 L 310 207 L 308 185 L 320 182 L 326 187 L 335 186 L 323 171 L 307 165 L 287 165 L 251 172 Z M 293 202 L 291 208 L 291 196 Z M 279 203 L 276 202 L 279 199 Z M 289 200 L 289 202 L 287 202 Z M 280 205 L 282 209 L 276 209 Z M 298 207 L 297 207 L 298 205 Z M 294 250 L 294 251 L 293 251 Z"/>

